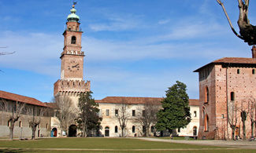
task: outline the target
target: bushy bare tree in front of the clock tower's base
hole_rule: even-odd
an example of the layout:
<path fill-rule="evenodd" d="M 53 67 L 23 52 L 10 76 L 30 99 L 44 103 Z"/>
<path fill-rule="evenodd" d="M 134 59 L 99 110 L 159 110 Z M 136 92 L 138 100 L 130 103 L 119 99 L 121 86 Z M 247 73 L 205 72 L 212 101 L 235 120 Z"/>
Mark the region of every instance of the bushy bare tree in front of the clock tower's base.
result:
<path fill-rule="evenodd" d="M 54 97 L 53 101 L 58 107 L 56 117 L 59 121 L 62 137 L 63 131 L 65 131 L 65 133 L 68 133 L 69 125 L 72 124 L 72 122 L 75 122 L 77 110 L 72 105 L 72 100 L 69 97 L 57 96 Z"/>

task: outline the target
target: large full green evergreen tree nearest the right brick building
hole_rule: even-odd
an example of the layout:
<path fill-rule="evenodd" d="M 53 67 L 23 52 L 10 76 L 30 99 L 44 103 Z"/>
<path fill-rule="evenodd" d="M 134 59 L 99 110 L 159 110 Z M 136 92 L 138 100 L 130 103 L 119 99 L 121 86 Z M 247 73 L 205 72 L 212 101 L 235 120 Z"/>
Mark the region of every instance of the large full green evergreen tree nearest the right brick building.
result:
<path fill-rule="evenodd" d="M 166 97 L 161 101 L 162 109 L 158 111 L 158 130 L 184 128 L 191 121 L 190 107 L 188 106 L 187 86 L 179 81 L 166 92 Z"/>

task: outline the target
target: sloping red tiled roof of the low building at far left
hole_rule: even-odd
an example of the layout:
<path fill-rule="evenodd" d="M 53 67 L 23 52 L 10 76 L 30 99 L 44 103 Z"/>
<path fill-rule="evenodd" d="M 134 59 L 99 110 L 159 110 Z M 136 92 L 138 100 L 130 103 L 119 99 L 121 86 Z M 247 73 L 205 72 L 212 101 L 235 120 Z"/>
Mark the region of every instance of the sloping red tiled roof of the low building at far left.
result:
<path fill-rule="evenodd" d="M 38 106 L 47 107 L 46 104 L 44 104 L 39 100 L 36 100 L 35 98 L 24 97 L 15 93 L 8 93 L 2 90 L 0 90 L 0 98 L 6 99 L 6 100 L 19 101 L 21 103 L 26 103 L 26 104 L 34 104 Z"/>

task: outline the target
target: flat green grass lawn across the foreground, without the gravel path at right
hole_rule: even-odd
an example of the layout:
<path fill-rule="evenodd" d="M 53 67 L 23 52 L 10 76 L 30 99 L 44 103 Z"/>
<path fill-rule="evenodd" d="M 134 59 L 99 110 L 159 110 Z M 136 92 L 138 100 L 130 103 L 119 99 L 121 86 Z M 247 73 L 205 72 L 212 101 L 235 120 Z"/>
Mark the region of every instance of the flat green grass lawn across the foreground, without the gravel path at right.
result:
<path fill-rule="evenodd" d="M 0 140 L 0 152 L 255 152 L 256 150 L 227 150 L 214 146 L 192 144 L 174 144 L 168 142 L 154 142 L 129 138 L 45 138 L 39 140 Z M 11 150 L 9 150 L 12 148 Z M 20 148 L 13 150 L 13 148 Z M 29 149 L 35 150 L 29 150 Z M 39 150 L 50 149 L 50 150 Z M 58 150 L 58 148 L 64 148 Z M 28 150 L 26 150 L 28 149 Z M 56 149 L 56 150 L 54 150 Z M 77 149 L 77 150 L 74 150 Z M 82 150 L 81 150 L 82 149 Z M 87 149 L 87 150 L 83 150 Z M 95 151 L 93 149 L 96 149 Z M 98 150 L 102 149 L 102 150 Z M 139 150 L 142 149 L 142 150 Z M 152 150 L 150 150 L 152 149 Z M 164 149 L 177 149 L 164 151 Z M 180 149 L 180 150 L 179 150 Z M 183 150 L 184 149 L 184 150 Z M 200 149 L 203 149 L 200 151 Z M 206 150 L 209 149 L 209 150 Z M 66 151 L 68 152 L 68 151 Z"/>

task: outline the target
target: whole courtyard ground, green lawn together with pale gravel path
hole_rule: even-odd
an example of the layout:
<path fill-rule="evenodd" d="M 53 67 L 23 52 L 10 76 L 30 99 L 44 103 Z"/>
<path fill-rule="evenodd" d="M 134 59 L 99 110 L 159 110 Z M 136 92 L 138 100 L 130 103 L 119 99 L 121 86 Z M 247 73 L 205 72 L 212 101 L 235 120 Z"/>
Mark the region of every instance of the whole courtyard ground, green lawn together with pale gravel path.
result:
<path fill-rule="evenodd" d="M 256 142 L 161 138 L 0 139 L 0 152 L 255 152 Z"/>

